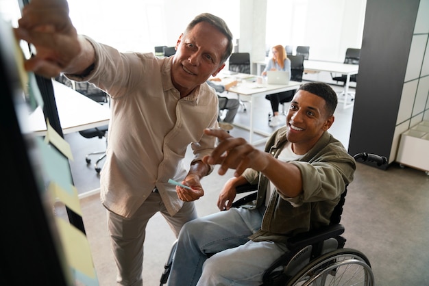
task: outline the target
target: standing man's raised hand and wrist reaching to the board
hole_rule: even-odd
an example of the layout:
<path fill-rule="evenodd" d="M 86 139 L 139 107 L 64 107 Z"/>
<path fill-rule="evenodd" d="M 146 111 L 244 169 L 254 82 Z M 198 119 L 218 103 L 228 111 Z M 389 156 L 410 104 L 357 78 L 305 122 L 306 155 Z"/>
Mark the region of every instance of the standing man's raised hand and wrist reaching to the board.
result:
<path fill-rule="evenodd" d="M 36 48 L 25 69 L 45 77 L 82 75 L 95 60 L 93 46 L 77 36 L 65 0 L 32 0 L 23 9 L 15 36 Z"/>

